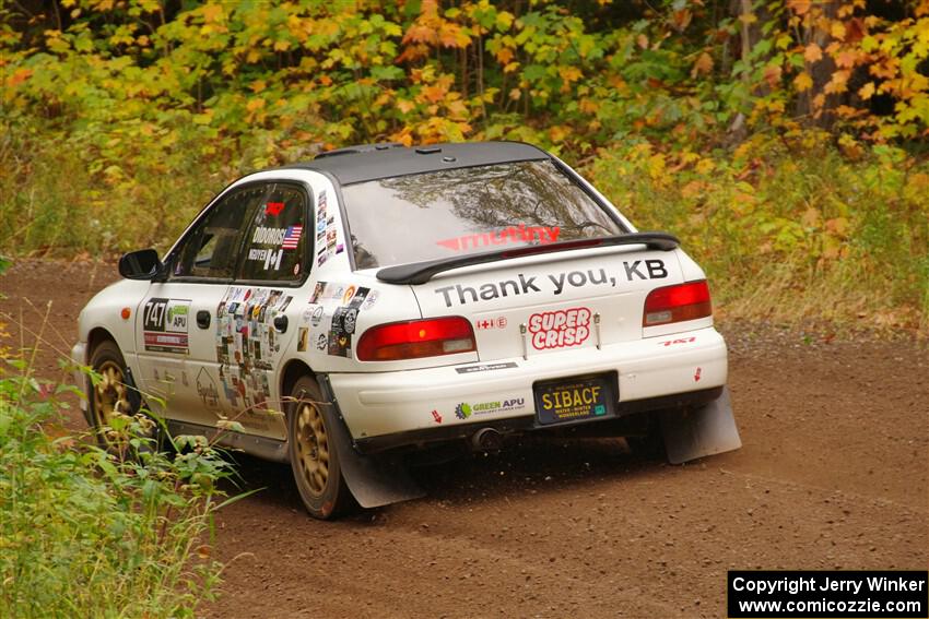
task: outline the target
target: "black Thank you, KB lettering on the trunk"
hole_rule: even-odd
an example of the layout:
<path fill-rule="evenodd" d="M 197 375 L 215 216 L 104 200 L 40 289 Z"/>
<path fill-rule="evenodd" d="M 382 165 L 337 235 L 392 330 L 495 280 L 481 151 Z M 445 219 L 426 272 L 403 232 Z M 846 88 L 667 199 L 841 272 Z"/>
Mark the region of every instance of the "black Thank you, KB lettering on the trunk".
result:
<path fill-rule="evenodd" d="M 615 288 L 625 282 L 637 282 L 642 279 L 663 279 L 668 277 L 668 269 L 663 260 L 631 260 L 622 263 L 619 272 L 607 269 L 587 269 L 580 271 L 566 271 L 542 277 L 532 275 L 527 277 L 517 273 L 514 279 L 489 282 L 474 286 L 443 286 L 436 288 L 436 295 L 442 295 L 445 307 L 455 305 L 466 306 L 479 301 L 491 301 L 501 297 L 516 297 L 531 293 L 546 291 L 557 296 L 568 288 L 586 288 L 590 286 L 603 286 Z"/>

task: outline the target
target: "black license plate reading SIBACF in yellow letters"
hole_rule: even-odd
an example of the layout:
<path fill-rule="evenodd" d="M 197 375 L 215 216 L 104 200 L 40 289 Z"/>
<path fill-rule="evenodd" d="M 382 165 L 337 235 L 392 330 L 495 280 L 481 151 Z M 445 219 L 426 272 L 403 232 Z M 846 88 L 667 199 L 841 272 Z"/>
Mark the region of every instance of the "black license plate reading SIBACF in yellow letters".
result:
<path fill-rule="evenodd" d="M 536 383 L 536 417 L 543 426 L 611 417 L 615 414 L 614 383 L 609 376 Z"/>

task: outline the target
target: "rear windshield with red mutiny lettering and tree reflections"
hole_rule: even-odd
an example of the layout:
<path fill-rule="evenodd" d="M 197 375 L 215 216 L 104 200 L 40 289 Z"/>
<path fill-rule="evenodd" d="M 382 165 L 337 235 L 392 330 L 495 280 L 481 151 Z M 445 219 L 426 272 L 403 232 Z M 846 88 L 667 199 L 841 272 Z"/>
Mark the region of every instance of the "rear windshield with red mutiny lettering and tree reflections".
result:
<path fill-rule="evenodd" d="M 358 269 L 623 231 L 549 160 L 372 180 L 342 195 Z"/>

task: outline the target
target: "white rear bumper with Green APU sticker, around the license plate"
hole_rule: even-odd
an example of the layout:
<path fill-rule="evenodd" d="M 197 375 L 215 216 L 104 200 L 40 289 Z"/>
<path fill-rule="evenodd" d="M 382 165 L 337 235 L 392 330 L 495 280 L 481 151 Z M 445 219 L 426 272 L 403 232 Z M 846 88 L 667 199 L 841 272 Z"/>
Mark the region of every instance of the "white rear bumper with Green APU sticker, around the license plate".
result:
<path fill-rule="evenodd" d="M 353 440 L 371 451 L 467 437 L 484 427 L 532 429 L 538 381 L 615 372 L 616 416 L 623 416 L 713 400 L 728 374 L 726 343 L 713 328 L 460 371 L 479 365 L 328 378 Z"/>

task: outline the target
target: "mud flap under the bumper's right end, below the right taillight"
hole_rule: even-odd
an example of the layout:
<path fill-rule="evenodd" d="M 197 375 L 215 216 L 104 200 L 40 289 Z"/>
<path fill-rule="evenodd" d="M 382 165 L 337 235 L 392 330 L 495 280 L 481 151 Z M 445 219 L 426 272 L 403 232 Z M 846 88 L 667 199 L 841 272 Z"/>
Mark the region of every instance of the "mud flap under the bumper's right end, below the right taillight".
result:
<path fill-rule="evenodd" d="M 661 435 L 671 464 L 737 450 L 742 447 L 729 388 L 717 400 L 701 406 L 662 410 Z"/>

